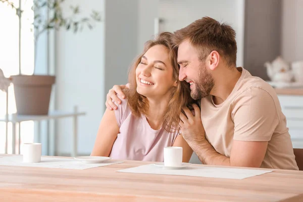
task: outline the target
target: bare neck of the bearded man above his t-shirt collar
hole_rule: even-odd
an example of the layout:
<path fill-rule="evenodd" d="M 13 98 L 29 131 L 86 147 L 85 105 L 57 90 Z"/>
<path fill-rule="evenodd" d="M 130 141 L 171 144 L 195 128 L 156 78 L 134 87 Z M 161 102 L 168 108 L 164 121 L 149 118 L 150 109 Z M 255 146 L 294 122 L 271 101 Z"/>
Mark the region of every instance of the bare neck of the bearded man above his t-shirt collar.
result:
<path fill-rule="evenodd" d="M 222 104 L 227 99 L 240 77 L 241 72 L 239 72 L 237 68 L 220 68 L 214 76 L 215 86 L 211 92 L 213 101 L 216 105 Z"/>

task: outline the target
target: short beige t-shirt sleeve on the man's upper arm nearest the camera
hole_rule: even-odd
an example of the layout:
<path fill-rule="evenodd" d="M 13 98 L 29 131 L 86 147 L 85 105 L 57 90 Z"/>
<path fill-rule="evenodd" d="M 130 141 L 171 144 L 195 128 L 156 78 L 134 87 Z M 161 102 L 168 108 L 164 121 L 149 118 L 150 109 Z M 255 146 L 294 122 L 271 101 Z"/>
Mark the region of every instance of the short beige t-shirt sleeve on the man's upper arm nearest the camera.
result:
<path fill-rule="evenodd" d="M 234 102 L 234 140 L 269 141 L 279 124 L 273 97 L 264 89 L 251 87 Z"/>

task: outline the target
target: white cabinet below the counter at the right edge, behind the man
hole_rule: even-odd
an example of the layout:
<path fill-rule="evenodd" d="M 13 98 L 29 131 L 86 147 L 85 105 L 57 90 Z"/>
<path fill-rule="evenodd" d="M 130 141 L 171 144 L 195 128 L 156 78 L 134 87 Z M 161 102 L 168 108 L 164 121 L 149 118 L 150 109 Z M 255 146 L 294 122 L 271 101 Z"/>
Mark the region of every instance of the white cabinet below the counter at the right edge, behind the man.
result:
<path fill-rule="evenodd" d="M 303 95 L 278 95 L 294 148 L 303 148 Z"/>

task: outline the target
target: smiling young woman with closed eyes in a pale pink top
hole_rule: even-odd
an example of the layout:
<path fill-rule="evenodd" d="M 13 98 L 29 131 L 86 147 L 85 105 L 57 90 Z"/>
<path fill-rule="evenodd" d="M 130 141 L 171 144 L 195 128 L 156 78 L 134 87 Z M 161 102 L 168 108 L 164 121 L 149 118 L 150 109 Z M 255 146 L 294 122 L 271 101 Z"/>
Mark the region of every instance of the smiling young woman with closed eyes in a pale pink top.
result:
<path fill-rule="evenodd" d="M 164 147 L 181 146 L 188 162 L 192 149 L 179 135 L 179 116 L 193 100 L 178 75 L 172 33 L 147 41 L 130 69 L 127 99 L 121 99 L 118 110 L 106 110 L 91 156 L 163 162 Z"/>

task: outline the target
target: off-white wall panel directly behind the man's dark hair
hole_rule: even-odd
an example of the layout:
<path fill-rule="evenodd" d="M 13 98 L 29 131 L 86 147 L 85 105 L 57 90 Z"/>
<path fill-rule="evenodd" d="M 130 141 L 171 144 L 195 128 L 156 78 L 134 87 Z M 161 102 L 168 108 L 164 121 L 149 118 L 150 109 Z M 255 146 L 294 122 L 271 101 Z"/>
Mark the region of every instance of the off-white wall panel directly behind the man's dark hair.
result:
<path fill-rule="evenodd" d="M 205 16 L 230 24 L 236 31 L 237 66 L 243 65 L 244 0 L 160 0 L 160 31 L 175 31 Z"/>

